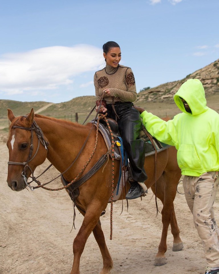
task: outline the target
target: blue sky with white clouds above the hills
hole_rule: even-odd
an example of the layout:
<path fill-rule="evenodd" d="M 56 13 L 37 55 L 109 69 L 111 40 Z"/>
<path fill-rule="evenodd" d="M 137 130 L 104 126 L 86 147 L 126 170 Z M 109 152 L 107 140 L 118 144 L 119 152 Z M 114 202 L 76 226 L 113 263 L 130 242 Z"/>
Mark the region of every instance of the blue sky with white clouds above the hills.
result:
<path fill-rule="evenodd" d="M 120 45 L 137 92 L 219 58 L 218 0 L 2 0 L 0 99 L 94 95 L 102 45 Z"/>

